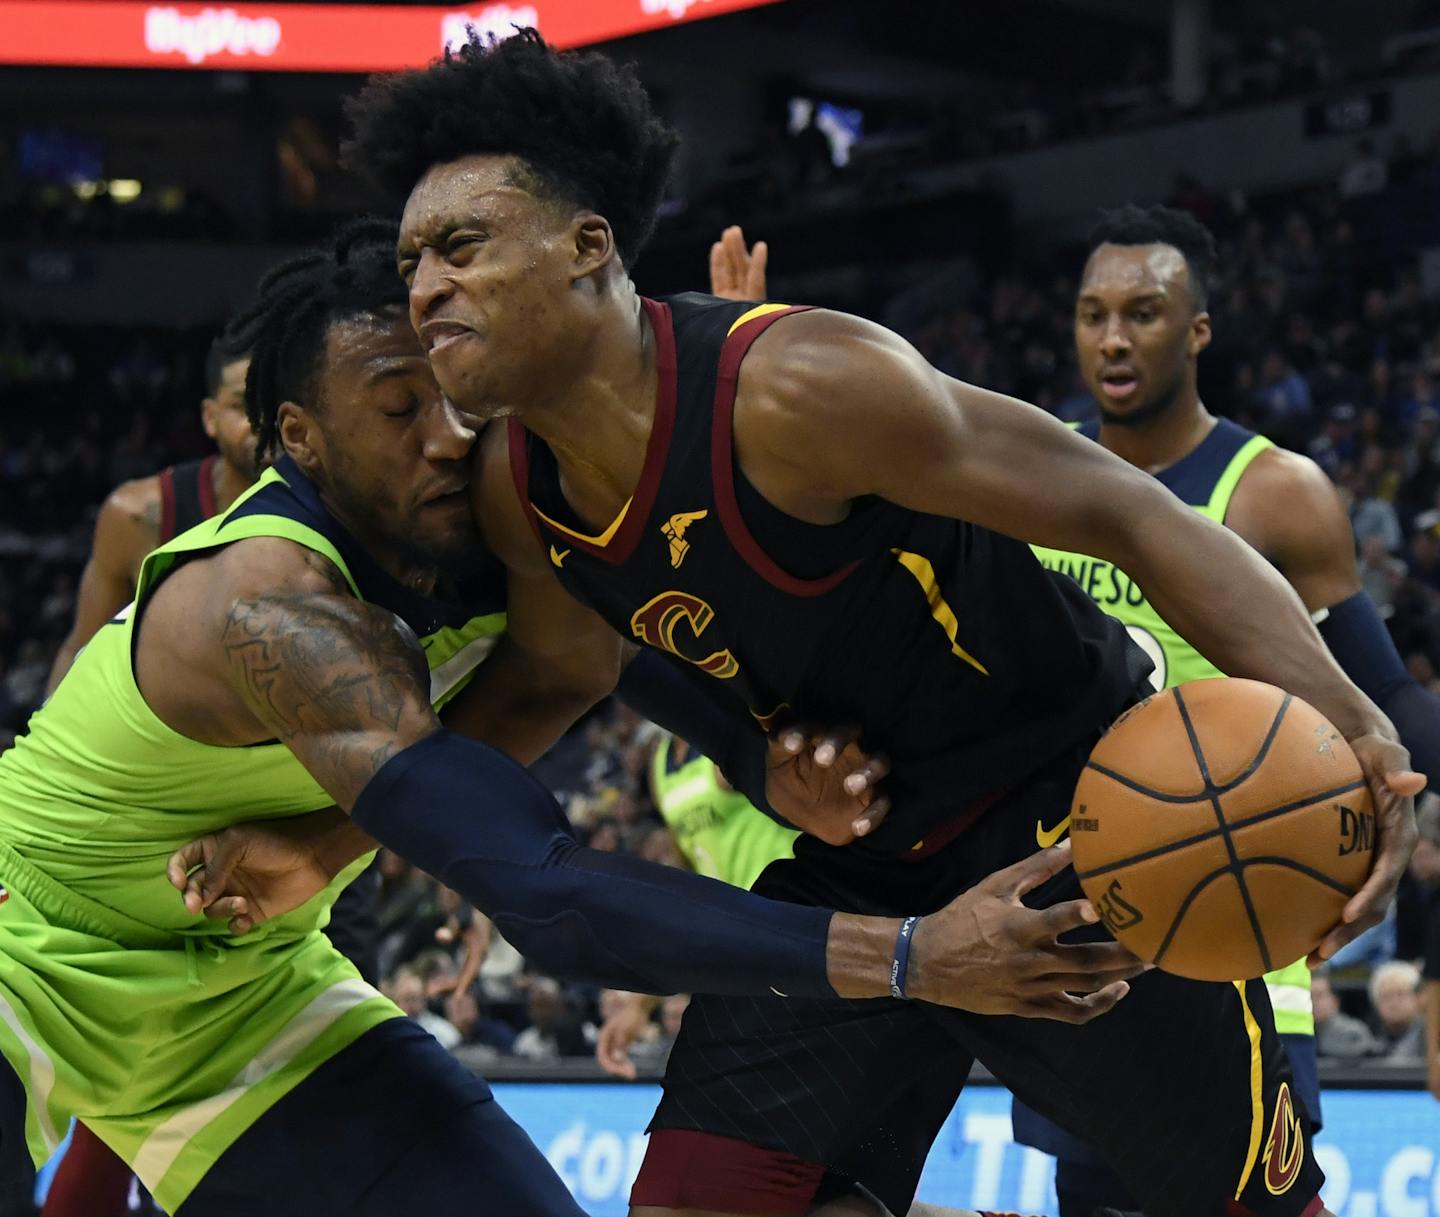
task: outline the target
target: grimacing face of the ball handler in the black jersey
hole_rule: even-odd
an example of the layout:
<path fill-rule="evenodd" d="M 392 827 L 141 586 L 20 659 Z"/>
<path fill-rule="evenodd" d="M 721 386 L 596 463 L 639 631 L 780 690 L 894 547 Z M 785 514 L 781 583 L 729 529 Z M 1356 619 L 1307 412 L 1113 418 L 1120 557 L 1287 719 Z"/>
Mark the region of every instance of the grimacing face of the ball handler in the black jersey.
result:
<path fill-rule="evenodd" d="M 501 156 L 432 166 L 396 245 L 435 377 L 478 418 L 516 413 L 577 360 L 573 287 L 599 265 L 577 256 L 577 217 L 516 184 L 517 167 Z"/>

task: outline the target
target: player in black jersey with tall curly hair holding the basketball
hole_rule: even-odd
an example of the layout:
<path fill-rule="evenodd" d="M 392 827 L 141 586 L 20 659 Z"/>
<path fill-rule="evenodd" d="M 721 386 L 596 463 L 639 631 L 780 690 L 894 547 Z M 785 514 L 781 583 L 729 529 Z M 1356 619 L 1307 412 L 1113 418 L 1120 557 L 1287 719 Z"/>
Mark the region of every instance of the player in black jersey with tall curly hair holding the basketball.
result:
<path fill-rule="evenodd" d="M 1423 779 L 1284 582 L 1099 445 L 880 327 L 639 298 L 625 266 L 675 138 L 603 58 L 533 32 L 477 42 L 377 79 L 353 118 L 353 161 L 406 196 L 399 269 L 441 386 L 508 419 L 487 428 L 475 480 L 492 549 L 549 562 L 708 697 L 762 723 L 855 720 L 891 755 L 884 824 L 844 847 L 802 838 L 757 892 L 877 912 L 963 893 L 950 909 L 973 928 L 956 945 L 965 1011 L 904 1000 L 923 989 L 907 951 L 929 919 L 870 948 L 893 951 L 891 1000 L 697 1000 L 635 1217 L 804 1213 L 827 1169 L 904 1211 L 975 1057 L 1084 1131 L 1153 1217 L 1318 1213 L 1263 985 L 1135 978 L 1097 926 L 1057 945 L 1081 926 L 1054 912 L 1079 893 L 1068 870 L 1028 892 L 988 880 L 1058 831 L 1149 670 L 1024 539 L 1122 566 L 1217 665 L 1336 723 L 1381 841 L 1322 949 L 1378 919 Z"/>

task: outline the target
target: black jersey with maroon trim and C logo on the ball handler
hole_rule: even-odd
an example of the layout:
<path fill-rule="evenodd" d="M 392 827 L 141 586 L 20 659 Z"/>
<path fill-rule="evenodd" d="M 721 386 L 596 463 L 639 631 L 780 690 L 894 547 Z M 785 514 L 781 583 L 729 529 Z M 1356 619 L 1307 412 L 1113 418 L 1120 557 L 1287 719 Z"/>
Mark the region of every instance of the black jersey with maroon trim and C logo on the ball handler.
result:
<path fill-rule="evenodd" d="M 696 294 L 644 307 L 660 385 L 634 497 L 588 536 L 553 454 L 511 421 L 520 500 L 566 588 L 708 696 L 766 727 L 864 729 L 891 759 L 893 808 L 861 848 L 932 851 L 1128 703 L 1145 658 L 1025 544 L 878 498 L 809 524 L 749 484 L 732 435 L 740 363 L 801 310 Z"/>

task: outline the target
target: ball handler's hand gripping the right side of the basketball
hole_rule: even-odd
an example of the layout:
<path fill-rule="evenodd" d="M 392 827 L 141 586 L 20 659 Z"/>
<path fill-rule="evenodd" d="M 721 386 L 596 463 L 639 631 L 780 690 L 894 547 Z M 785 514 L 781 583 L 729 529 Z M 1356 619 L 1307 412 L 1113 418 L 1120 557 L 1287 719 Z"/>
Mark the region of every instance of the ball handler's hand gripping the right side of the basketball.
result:
<path fill-rule="evenodd" d="M 1410 753 L 1380 735 L 1356 736 L 1349 746 L 1365 771 L 1375 804 L 1375 864 L 1365 886 L 1341 913 L 1341 923 L 1310 952 L 1308 962 L 1312 968 L 1320 966 L 1346 942 L 1385 919 L 1418 837 L 1416 796 L 1426 788 L 1426 776 L 1410 768 Z"/>

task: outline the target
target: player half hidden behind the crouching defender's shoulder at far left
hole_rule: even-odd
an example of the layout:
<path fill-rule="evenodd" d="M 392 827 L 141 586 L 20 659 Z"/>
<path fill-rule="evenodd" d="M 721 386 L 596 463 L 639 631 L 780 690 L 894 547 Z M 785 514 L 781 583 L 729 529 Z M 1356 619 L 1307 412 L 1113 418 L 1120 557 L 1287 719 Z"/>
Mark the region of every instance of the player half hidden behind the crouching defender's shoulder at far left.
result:
<path fill-rule="evenodd" d="M 204 357 L 200 422 L 216 451 L 199 461 L 121 482 L 101 504 L 95 540 L 75 598 L 75 624 L 45 686 L 49 697 L 81 647 L 135 595 L 140 563 L 156 546 L 223 511 L 255 481 L 255 436 L 245 416 L 245 351 L 215 341 Z"/>

